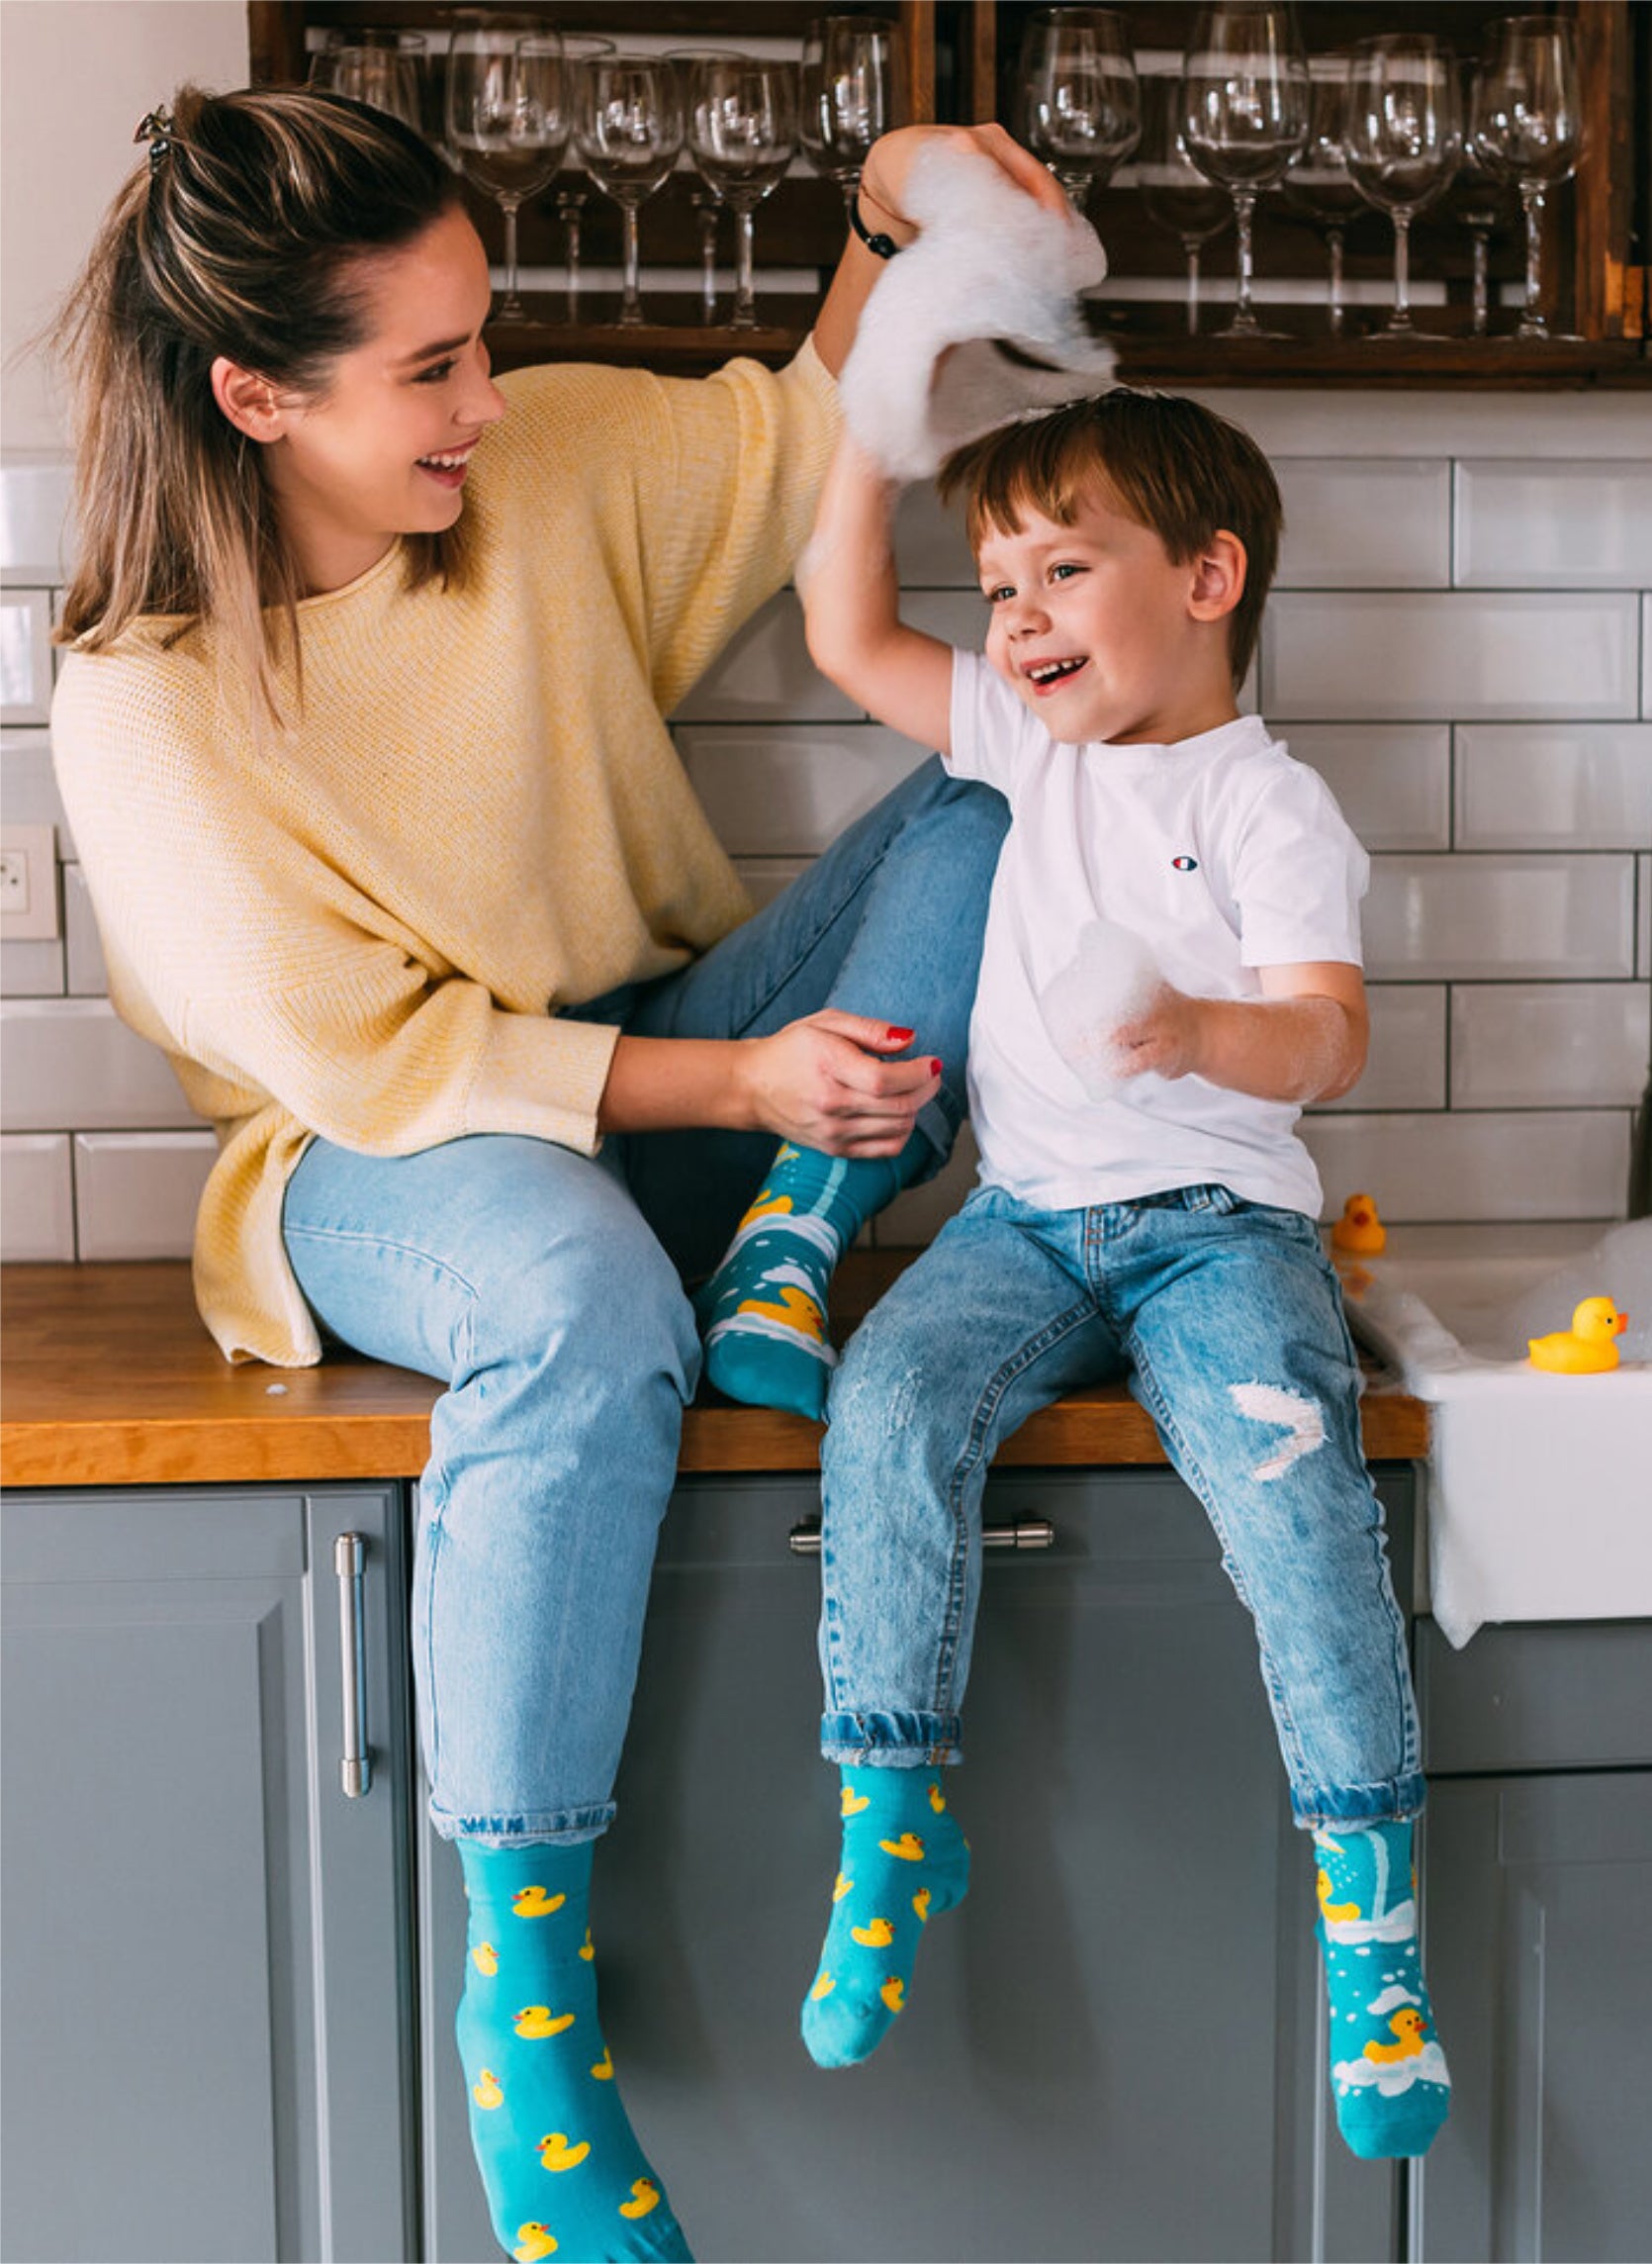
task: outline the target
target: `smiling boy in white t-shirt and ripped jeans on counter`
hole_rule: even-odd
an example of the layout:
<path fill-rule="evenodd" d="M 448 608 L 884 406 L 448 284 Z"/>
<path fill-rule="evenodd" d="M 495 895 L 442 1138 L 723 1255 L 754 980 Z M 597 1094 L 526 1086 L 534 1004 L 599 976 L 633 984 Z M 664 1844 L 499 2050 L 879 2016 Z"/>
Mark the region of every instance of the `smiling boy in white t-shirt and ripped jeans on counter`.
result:
<path fill-rule="evenodd" d="M 987 652 L 907 627 L 892 491 L 844 441 L 799 573 L 815 661 L 1012 808 L 969 1039 L 980 1186 L 851 1338 L 824 1444 L 844 1854 L 803 2038 L 864 2058 L 969 1850 L 957 1759 L 998 1444 L 1129 1372 L 1256 1619 L 1313 1832 L 1335 2106 L 1365 2158 L 1446 2117 L 1417 1949 L 1423 1804 L 1360 1377 L 1294 1137 L 1365 1066 L 1367 858 L 1240 715 L 1281 507 L 1236 426 L 1111 392 L 957 451 Z M 1089 1007 L 1089 1012 L 1086 1012 Z"/>

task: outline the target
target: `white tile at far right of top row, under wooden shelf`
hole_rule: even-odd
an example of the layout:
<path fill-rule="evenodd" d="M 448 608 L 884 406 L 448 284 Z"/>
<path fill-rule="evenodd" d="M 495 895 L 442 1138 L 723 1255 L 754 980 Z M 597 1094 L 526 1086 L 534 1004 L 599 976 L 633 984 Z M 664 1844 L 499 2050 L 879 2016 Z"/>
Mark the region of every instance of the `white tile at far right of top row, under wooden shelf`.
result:
<path fill-rule="evenodd" d="M 1652 462 L 1457 464 L 1453 580 L 1641 589 L 1652 582 Z"/>

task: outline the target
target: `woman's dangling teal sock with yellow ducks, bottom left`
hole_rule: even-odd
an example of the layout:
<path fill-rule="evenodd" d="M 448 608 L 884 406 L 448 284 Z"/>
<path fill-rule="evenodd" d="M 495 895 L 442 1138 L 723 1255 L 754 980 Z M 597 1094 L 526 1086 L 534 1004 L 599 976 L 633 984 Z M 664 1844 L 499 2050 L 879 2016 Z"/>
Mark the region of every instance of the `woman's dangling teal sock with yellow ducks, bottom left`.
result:
<path fill-rule="evenodd" d="M 520 2264 L 688 2257 L 597 2026 L 591 1847 L 459 1841 L 471 2142 L 493 2232 Z"/>

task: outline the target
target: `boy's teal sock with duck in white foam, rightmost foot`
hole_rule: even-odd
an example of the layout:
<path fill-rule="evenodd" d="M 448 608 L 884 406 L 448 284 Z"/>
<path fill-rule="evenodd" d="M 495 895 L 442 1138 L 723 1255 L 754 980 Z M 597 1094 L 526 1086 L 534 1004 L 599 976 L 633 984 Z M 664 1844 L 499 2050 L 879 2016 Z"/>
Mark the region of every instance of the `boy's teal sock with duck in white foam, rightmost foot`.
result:
<path fill-rule="evenodd" d="M 1331 2092 L 1362 2162 L 1428 2153 L 1451 2110 L 1417 1945 L 1412 1827 L 1315 1832 L 1331 1997 Z"/>

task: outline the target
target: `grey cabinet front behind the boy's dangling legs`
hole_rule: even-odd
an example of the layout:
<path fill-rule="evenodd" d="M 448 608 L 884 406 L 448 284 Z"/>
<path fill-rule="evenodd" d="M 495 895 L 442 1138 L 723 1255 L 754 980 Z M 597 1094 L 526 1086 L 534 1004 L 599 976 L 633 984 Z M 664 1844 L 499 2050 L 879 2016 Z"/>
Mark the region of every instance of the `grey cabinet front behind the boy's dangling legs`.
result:
<path fill-rule="evenodd" d="M 1410 1472 L 1385 1476 L 1399 1551 Z M 1000 1474 L 966 1764 L 964 1906 L 874 2060 L 797 2013 L 837 1859 L 817 1750 L 806 1478 L 686 1481 L 661 1542 L 618 1823 L 604 2024 L 702 2257 L 1389 2257 L 1399 2178 L 1335 2139 L 1313 1861 L 1249 1616 L 1168 1472 Z M 498 2255 L 453 2044 L 464 1909 L 423 1843 L 425 2255 Z M 554 2223 L 550 2226 L 554 2232 Z"/>

